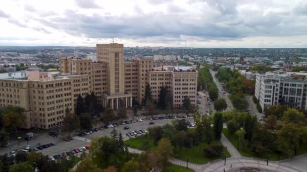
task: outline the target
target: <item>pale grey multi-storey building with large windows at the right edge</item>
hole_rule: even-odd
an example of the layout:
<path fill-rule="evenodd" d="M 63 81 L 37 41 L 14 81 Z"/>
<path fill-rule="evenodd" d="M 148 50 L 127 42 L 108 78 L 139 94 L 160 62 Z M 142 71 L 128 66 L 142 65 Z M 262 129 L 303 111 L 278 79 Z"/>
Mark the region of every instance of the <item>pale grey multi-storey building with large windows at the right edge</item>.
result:
<path fill-rule="evenodd" d="M 307 73 L 267 72 L 257 74 L 255 97 L 264 109 L 270 105 L 287 105 L 307 109 Z"/>

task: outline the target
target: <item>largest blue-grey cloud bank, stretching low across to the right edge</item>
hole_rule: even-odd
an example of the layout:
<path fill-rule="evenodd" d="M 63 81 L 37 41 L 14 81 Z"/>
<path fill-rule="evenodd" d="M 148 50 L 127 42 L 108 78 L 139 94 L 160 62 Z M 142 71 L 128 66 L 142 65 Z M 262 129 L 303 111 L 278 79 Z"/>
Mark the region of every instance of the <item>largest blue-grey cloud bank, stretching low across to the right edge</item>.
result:
<path fill-rule="evenodd" d="M 65 17 L 53 16 L 48 19 L 37 19 L 37 21 L 74 36 L 85 34 L 89 38 L 180 39 L 182 35 L 185 35 L 199 37 L 201 40 L 237 40 L 253 36 L 306 34 L 307 16 L 296 18 L 292 15 L 281 15 L 288 14 L 288 11 L 264 15 L 266 8 L 239 12 L 236 10 L 237 2 L 230 3 L 226 0 L 212 0 L 206 3 L 209 9 L 197 13 L 197 16 L 181 13 L 181 9 L 176 8 L 168 8 L 167 11 L 170 13 L 167 14 L 158 12 L 143 14 L 142 11 L 136 10 L 139 13 L 137 16 L 100 16 L 99 14 L 85 16 L 69 10 L 65 12 Z M 208 8 L 208 6 L 203 7 Z M 136 9 L 138 9 L 137 6 Z"/>

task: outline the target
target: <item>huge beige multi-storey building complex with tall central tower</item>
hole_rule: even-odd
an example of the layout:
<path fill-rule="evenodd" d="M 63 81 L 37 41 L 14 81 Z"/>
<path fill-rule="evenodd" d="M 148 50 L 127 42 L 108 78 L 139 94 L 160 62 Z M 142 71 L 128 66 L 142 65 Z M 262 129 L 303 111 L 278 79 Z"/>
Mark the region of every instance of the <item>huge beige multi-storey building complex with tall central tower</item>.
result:
<path fill-rule="evenodd" d="M 63 125 L 65 110 L 74 112 L 78 95 L 94 92 L 103 107 L 141 104 L 149 83 L 154 100 L 162 85 L 173 96 L 174 107 L 189 97 L 195 105 L 197 76 L 193 67 L 154 67 L 154 59 L 124 62 L 123 44 L 97 44 L 97 61 L 60 58 L 60 72 L 31 69 L 0 74 L 0 108 L 25 109 L 24 128 L 49 129 Z"/>

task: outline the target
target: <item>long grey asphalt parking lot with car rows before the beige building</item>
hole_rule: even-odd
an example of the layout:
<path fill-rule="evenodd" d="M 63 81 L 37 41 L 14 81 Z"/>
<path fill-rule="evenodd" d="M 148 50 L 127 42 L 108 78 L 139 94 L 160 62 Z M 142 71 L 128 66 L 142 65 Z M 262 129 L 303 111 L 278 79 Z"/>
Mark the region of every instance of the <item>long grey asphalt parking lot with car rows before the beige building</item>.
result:
<path fill-rule="evenodd" d="M 178 118 L 178 119 L 181 120 L 181 118 Z M 187 121 L 190 121 L 191 123 L 194 123 L 193 119 L 188 119 L 188 118 L 185 118 L 185 119 Z M 126 139 L 129 139 L 129 137 L 126 136 L 127 132 L 131 132 L 134 130 L 143 130 L 143 129 L 147 130 L 149 127 L 153 127 L 153 126 L 163 126 L 167 123 L 171 123 L 172 120 L 175 120 L 175 119 L 158 119 L 158 120 L 143 119 L 143 121 L 141 122 L 135 122 L 135 123 L 126 124 L 126 125 L 119 125 L 115 127 L 115 129 L 118 131 L 118 133 L 119 132 L 122 133 L 124 140 L 126 140 Z M 154 124 L 149 125 L 149 122 L 154 122 Z M 129 126 L 129 129 L 125 130 L 124 129 L 125 126 Z M 94 126 L 93 128 L 98 128 L 98 127 L 99 126 Z M 43 136 L 40 136 L 39 140 L 30 140 L 28 144 L 31 145 L 31 147 L 33 148 L 38 142 L 40 142 L 41 144 L 48 144 L 48 143 L 54 142 L 56 143 L 55 146 L 50 146 L 48 148 L 44 148 L 42 150 L 37 151 L 37 152 L 42 152 L 43 154 L 48 155 L 48 156 L 54 156 L 62 152 L 70 151 L 71 149 L 76 149 L 76 148 L 80 148 L 80 147 L 89 145 L 90 139 L 92 137 L 111 136 L 112 130 L 113 128 L 107 128 L 104 130 L 98 130 L 97 132 L 93 132 L 91 134 L 81 136 L 81 137 L 74 136 L 73 137 L 74 139 L 71 141 L 64 141 L 60 138 L 53 138 L 52 136 L 48 136 L 46 133 Z M 26 145 L 21 145 L 21 146 L 26 146 Z M 14 148 L 17 148 L 18 150 L 20 150 L 19 146 L 12 147 L 12 150 Z M 1 153 L 2 154 L 9 153 L 8 148 L 1 149 Z"/>

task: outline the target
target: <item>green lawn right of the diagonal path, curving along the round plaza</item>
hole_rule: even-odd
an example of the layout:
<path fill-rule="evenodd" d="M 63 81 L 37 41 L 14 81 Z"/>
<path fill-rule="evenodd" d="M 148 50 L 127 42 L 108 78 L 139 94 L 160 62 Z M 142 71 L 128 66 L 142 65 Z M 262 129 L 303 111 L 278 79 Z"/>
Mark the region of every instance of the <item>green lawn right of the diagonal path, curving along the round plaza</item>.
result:
<path fill-rule="evenodd" d="M 241 153 L 241 155 L 246 156 L 246 157 L 256 157 L 256 158 L 261 158 L 261 159 L 266 159 L 267 154 L 270 155 L 270 160 L 278 160 L 278 154 L 270 150 L 265 154 L 257 154 L 253 152 L 250 148 L 246 148 L 244 150 L 238 148 L 238 138 L 236 135 L 229 135 L 229 130 L 227 128 L 223 128 L 223 134 L 230 140 L 230 142 L 234 145 L 234 147 Z M 297 155 L 303 154 L 307 152 L 307 146 L 302 146 L 297 150 Z M 280 160 L 289 158 L 286 154 L 280 154 Z"/>

